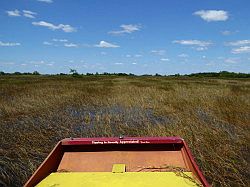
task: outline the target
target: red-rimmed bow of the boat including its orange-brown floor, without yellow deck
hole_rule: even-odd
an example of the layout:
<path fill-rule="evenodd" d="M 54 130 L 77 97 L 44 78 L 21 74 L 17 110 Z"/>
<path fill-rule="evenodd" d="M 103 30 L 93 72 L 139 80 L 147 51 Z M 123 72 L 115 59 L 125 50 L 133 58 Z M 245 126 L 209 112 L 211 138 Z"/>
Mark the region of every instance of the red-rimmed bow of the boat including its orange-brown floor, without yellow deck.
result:
<path fill-rule="evenodd" d="M 209 186 L 185 141 L 179 137 L 64 139 L 25 186 L 35 186 L 53 172 L 111 172 L 114 164 L 125 164 L 126 172 L 178 167 L 192 172 L 201 184 Z"/>

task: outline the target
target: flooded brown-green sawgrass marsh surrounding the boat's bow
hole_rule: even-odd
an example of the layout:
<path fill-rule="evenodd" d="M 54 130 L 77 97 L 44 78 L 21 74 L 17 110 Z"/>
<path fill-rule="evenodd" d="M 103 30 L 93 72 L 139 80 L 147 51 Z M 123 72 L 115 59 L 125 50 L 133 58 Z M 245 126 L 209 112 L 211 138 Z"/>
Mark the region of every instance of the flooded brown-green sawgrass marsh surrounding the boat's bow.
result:
<path fill-rule="evenodd" d="M 0 76 L 0 186 L 65 137 L 181 136 L 212 186 L 250 186 L 250 79 Z"/>

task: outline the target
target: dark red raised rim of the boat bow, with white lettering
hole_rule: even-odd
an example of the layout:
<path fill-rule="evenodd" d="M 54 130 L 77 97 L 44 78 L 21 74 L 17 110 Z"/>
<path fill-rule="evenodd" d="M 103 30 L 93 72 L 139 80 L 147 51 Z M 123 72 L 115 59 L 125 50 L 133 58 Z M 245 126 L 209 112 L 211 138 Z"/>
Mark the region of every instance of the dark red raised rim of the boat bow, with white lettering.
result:
<path fill-rule="evenodd" d="M 191 154 L 190 149 L 188 148 L 186 142 L 180 137 L 115 137 L 115 138 L 66 138 L 61 140 L 57 146 L 51 151 L 46 160 L 41 164 L 37 171 L 31 176 L 29 181 L 25 184 L 26 187 L 34 186 L 50 172 L 55 171 L 54 168 L 58 167 L 59 161 L 66 147 L 75 147 L 75 146 L 91 146 L 91 145 L 112 145 L 119 144 L 121 147 L 124 144 L 150 144 L 154 146 L 155 144 L 166 144 L 166 145 L 180 145 L 184 148 L 185 154 L 187 155 L 189 162 L 192 165 L 193 171 L 196 176 L 199 178 L 203 186 L 209 187 L 209 183 L 203 176 L 199 167 L 197 166 L 194 157 Z M 92 147 L 92 146 L 91 146 Z M 94 146 L 95 147 L 95 146 Z M 58 155 L 56 157 L 56 155 Z M 49 168 L 49 165 L 53 166 Z"/>

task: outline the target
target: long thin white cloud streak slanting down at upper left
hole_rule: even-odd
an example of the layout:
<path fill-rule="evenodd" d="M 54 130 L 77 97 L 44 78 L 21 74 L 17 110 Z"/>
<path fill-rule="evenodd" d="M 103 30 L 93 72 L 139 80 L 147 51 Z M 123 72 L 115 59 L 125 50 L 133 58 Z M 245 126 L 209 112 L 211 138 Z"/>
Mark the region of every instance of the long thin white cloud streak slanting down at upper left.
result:
<path fill-rule="evenodd" d="M 76 32 L 77 31 L 76 28 L 70 25 L 64 25 L 64 24 L 54 25 L 46 21 L 32 22 L 32 24 L 35 26 L 47 27 L 51 30 L 62 30 L 64 32 Z"/>

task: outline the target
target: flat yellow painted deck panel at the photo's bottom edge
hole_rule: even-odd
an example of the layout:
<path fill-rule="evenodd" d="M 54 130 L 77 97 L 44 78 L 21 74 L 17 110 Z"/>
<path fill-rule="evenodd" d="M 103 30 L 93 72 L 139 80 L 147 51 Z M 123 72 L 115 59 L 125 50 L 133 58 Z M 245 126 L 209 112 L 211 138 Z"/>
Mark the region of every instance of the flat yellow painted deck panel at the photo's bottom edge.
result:
<path fill-rule="evenodd" d="M 191 172 L 65 172 L 51 173 L 37 187 L 190 187 L 197 186 Z"/>

